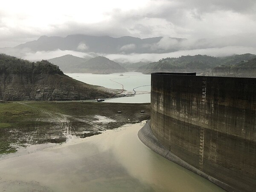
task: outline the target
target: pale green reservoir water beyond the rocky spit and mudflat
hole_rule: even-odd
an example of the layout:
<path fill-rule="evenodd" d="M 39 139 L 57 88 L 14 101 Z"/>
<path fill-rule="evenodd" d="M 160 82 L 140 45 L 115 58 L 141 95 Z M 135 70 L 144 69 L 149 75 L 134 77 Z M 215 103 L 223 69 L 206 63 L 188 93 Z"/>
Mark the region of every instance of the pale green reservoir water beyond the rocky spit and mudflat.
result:
<path fill-rule="evenodd" d="M 145 75 L 137 72 L 112 73 L 108 75 L 99 75 L 91 73 L 65 73 L 73 79 L 84 83 L 99 85 L 112 89 L 122 89 L 132 92 L 136 88 L 137 94 L 131 97 L 122 97 L 116 99 L 108 99 L 104 102 L 119 102 L 119 103 L 150 103 L 150 84 L 151 75 Z M 121 85 L 122 84 L 122 85 Z M 132 92 L 133 93 L 133 92 Z M 144 94 L 141 94 L 144 93 Z"/>

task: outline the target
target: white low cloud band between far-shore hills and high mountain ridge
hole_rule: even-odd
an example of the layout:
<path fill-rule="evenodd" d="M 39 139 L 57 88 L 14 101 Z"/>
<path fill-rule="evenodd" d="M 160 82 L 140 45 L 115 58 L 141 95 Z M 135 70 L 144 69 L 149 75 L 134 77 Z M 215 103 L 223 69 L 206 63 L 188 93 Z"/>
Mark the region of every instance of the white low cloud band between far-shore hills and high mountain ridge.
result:
<path fill-rule="evenodd" d="M 224 41 L 224 39 L 226 41 Z M 180 57 L 182 55 L 210 55 L 210 56 L 228 56 L 233 54 L 244 54 L 251 53 L 256 54 L 256 40 L 251 40 L 251 42 L 244 42 L 246 39 L 237 38 L 220 38 L 220 39 L 201 39 L 201 40 L 182 40 L 180 42 L 169 41 L 168 44 L 161 42 L 160 44 L 147 45 L 156 48 L 160 46 L 162 48 L 170 48 L 171 46 L 178 48 L 178 51 L 167 52 L 167 53 L 131 53 L 131 54 L 104 54 L 104 53 L 94 53 L 94 52 L 80 52 L 71 50 L 60 50 L 56 49 L 54 51 L 38 51 L 32 52 L 30 49 L 9 49 L 2 48 L 0 52 L 6 53 L 7 55 L 16 56 L 18 58 L 26 59 L 29 61 L 41 61 L 42 59 L 50 59 L 55 57 L 60 57 L 63 55 L 74 55 L 81 58 L 93 58 L 99 55 L 103 55 L 111 60 L 119 63 L 125 62 L 153 62 L 158 61 L 161 58 L 167 57 Z M 230 42 L 230 43 L 228 43 Z M 244 42 L 244 43 L 243 43 Z M 230 45 L 228 45 L 230 44 Z M 239 45 L 240 44 L 240 45 Z M 250 44 L 251 46 L 246 46 Z M 216 47 L 218 46 L 218 47 Z"/>

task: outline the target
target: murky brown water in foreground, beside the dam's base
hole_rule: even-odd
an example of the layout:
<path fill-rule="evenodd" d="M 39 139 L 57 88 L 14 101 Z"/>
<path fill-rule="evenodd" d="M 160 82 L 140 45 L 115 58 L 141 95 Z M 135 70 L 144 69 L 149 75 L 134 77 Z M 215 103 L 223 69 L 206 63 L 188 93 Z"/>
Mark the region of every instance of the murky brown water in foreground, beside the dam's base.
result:
<path fill-rule="evenodd" d="M 143 123 L 0 160 L 6 192 L 216 192 L 223 191 L 147 148 Z"/>

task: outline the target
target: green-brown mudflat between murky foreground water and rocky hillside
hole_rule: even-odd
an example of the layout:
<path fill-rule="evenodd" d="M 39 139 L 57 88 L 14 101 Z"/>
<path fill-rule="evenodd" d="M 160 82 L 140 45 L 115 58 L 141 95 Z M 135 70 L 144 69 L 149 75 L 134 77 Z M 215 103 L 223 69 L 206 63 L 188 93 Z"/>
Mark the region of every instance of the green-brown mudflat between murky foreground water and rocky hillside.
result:
<path fill-rule="evenodd" d="M 82 121 L 93 122 L 97 120 L 95 115 L 115 120 L 116 122 L 95 123 L 102 128 L 113 129 L 150 119 L 150 104 L 31 101 L 0 103 L 0 154 L 15 152 L 17 146 L 24 146 L 26 143 L 63 143 L 67 134 L 78 137 L 99 134 L 98 128 Z"/>

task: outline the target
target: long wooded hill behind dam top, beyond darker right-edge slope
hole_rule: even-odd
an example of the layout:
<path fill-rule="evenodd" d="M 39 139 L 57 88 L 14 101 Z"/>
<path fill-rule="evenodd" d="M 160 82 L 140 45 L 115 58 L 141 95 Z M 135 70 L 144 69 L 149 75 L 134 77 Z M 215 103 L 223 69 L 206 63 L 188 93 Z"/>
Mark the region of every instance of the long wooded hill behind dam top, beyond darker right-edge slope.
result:
<path fill-rule="evenodd" d="M 179 58 L 163 58 L 141 66 L 137 72 L 150 74 L 154 72 L 196 72 L 198 74 L 210 71 L 219 65 L 236 64 L 239 61 L 256 58 L 253 54 L 232 55 L 228 57 L 212 57 L 208 55 L 187 55 Z"/>

